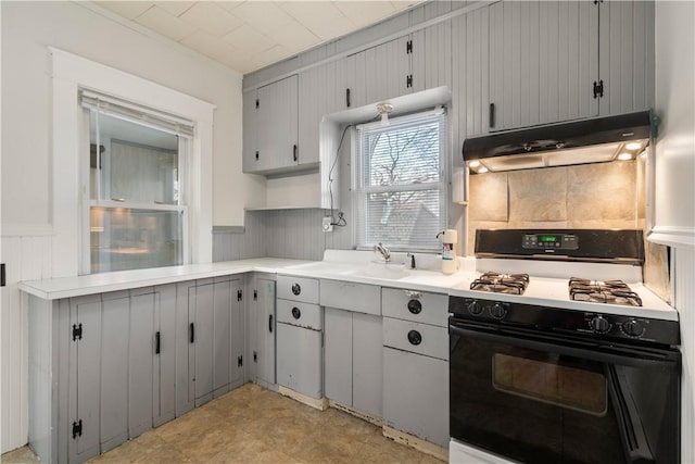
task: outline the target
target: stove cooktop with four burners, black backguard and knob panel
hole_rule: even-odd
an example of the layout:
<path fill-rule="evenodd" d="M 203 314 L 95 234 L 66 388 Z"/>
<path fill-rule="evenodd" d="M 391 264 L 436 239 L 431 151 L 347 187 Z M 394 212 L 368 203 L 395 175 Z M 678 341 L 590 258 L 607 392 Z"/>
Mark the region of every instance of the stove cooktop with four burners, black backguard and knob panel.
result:
<path fill-rule="evenodd" d="M 498 327 L 679 344 L 678 312 L 642 284 L 642 239 L 641 230 L 478 230 L 477 273 L 450 291 L 450 313 Z"/>

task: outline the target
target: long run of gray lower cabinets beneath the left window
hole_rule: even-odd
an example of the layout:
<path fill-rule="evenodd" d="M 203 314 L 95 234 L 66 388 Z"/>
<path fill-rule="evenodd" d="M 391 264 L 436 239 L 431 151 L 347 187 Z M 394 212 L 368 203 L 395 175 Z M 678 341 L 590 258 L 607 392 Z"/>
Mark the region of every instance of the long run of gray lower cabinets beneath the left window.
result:
<path fill-rule="evenodd" d="M 243 384 L 240 283 L 29 296 L 29 444 L 41 462 L 87 461 Z"/>

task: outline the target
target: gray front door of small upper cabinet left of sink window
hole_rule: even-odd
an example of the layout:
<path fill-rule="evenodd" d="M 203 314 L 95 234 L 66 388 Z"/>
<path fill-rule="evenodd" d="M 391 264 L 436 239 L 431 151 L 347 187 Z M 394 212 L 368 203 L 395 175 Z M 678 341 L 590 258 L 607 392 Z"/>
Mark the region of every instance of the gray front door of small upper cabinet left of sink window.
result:
<path fill-rule="evenodd" d="M 257 98 L 258 168 L 298 164 L 298 76 L 258 88 Z"/>

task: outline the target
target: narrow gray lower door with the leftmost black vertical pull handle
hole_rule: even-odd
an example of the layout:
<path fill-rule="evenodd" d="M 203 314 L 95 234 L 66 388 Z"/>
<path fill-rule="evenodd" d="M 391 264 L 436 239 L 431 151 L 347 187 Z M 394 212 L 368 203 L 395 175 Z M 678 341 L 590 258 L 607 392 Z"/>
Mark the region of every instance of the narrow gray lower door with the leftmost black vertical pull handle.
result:
<path fill-rule="evenodd" d="M 176 285 L 155 288 L 153 425 L 176 415 Z"/>

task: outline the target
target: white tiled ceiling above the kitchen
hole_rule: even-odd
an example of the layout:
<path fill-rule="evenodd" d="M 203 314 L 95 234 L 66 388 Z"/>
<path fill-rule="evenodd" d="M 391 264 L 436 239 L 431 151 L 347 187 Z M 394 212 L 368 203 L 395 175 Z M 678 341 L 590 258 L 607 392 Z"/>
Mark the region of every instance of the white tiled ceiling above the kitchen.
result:
<path fill-rule="evenodd" d="M 96 1 L 249 73 L 393 16 L 421 0 Z"/>

